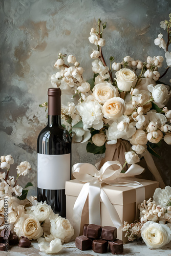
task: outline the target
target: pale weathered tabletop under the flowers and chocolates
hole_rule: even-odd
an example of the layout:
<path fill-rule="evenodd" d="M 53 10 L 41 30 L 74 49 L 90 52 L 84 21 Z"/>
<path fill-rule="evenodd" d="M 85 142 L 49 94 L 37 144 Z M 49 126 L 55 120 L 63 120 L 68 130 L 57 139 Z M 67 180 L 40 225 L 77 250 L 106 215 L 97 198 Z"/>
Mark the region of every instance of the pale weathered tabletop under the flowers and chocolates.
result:
<path fill-rule="evenodd" d="M 46 256 L 51 254 L 46 254 L 45 252 L 40 252 L 38 249 L 38 243 L 32 242 L 30 248 L 21 248 L 18 246 L 13 246 L 8 252 L 1 251 L 1 256 Z M 100 253 L 95 253 L 93 250 L 81 251 L 75 247 L 75 242 L 69 242 L 63 245 L 63 249 L 58 254 L 52 254 L 57 256 L 100 256 Z M 112 256 L 113 254 L 103 253 L 103 255 Z M 119 255 L 119 254 L 118 254 Z M 130 242 L 124 244 L 124 252 L 122 255 L 140 255 L 140 256 L 171 256 L 171 242 L 164 246 L 162 249 L 151 250 L 146 247 L 141 241 Z"/>

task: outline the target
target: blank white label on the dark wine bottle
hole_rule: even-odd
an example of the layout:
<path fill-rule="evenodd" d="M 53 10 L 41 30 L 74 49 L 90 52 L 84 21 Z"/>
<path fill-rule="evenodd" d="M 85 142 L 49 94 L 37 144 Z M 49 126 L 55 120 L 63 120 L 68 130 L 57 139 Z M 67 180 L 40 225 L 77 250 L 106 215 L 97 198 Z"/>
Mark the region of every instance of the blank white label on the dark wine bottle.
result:
<path fill-rule="evenodd" d="M 37 154 L 37 187 L 44 189 L 65 189 L 70 180 L 71 154 Z"/>

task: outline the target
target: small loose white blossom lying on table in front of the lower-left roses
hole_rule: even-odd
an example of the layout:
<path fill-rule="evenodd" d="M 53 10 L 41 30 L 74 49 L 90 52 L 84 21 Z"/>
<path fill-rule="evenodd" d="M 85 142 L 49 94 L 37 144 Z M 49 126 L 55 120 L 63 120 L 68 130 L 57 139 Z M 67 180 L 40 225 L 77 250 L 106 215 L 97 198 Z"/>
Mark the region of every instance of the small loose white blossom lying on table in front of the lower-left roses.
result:
<path fill-rule="evenodd" d="M 46 253 L 58 253 L 63 247 L 61 240 L 58 238 L 53 239 L 50 243 L 42 241 L 38 244 L 40 251 Z"/>

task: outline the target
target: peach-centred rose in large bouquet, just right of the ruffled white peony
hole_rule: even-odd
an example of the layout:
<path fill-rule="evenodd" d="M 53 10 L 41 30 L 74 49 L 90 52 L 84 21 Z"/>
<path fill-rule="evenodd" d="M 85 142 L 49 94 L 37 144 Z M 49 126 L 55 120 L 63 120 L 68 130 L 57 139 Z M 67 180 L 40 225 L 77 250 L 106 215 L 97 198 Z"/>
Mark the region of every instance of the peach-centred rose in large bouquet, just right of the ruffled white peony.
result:
<path fill-rule="evenodd" d="M 102 106 L 102 113 L 104 118 L 113 119 L 118 118 L 125 112 L 125 102 L 120 97 L 113 97 L 107 100 Z"/>

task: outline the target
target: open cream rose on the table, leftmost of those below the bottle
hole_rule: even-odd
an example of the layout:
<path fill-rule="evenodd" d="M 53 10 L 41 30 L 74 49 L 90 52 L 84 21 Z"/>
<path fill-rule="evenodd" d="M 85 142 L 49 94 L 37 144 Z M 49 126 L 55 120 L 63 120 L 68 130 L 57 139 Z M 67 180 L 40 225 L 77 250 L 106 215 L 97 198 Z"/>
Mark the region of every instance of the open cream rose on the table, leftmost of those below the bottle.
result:
<path fill-rule="evenodd" d="M 22 214 L 14 226 L 18 237 L 37 239 L 42 236 L 42 228 L 38 219 L 33 215 Z"/>

